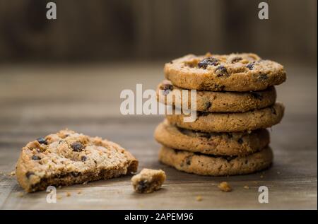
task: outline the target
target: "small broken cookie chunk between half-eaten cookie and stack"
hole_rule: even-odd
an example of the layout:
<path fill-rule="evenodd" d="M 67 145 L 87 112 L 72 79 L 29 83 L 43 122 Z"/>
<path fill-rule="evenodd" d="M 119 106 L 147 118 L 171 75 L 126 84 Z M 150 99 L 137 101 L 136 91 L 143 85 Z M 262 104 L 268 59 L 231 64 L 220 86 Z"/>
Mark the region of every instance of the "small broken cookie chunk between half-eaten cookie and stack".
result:
<path fill-rule="evenodd" d="M 165 178 L 163 170 L 143 169 L 138 175 L 131 178 L 131 184 L 138 193 L 151 193 L 160 189 Z"/>

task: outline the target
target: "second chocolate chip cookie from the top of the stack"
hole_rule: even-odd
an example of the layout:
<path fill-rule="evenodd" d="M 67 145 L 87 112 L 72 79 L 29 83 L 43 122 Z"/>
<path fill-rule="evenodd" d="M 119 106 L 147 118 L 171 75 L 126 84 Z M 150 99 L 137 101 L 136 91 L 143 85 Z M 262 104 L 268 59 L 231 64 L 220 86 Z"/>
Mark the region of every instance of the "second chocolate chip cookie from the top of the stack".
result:
<path fill-rule="evenodd" d="M 175 106 L 177 102 L 179 106 L 182 106 L 182 90 L 188 92 L 187 105 L 191 108 L 190 90 L 172 86 L 172 83 L 167 80 L 159 84 L 157 99 L 166 105 Z M 245 93 L 196 91 L 196 110 L 203 112 L 247 112 L 269 107 L 275 101 L 276 90 L 273 86 L 266 90 Z"/>

